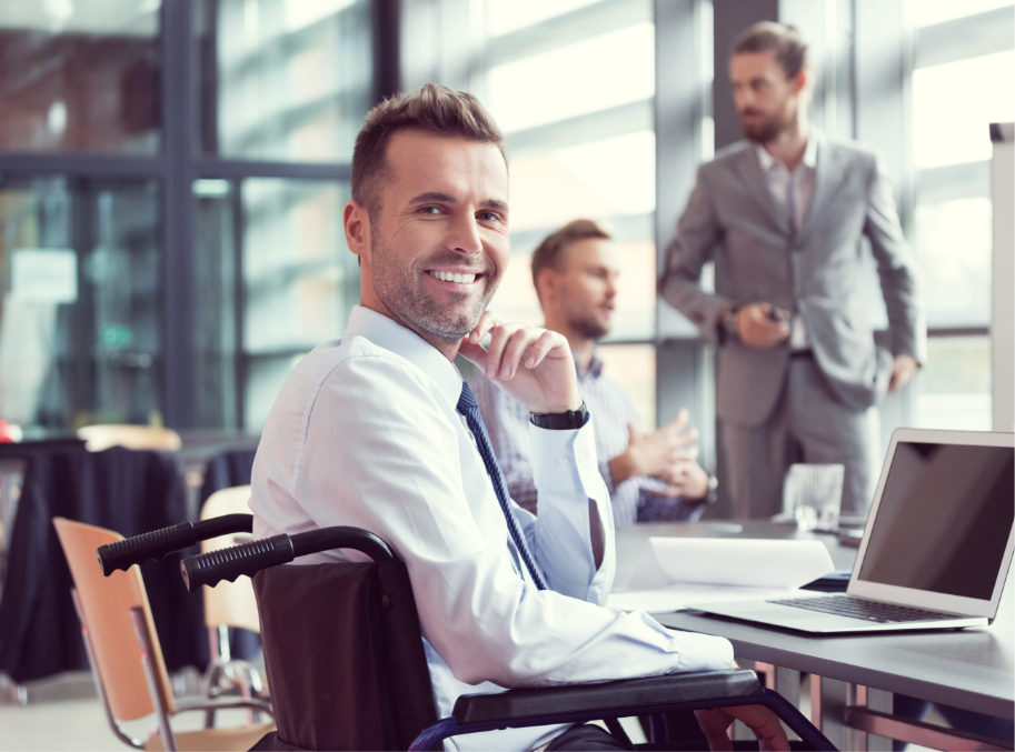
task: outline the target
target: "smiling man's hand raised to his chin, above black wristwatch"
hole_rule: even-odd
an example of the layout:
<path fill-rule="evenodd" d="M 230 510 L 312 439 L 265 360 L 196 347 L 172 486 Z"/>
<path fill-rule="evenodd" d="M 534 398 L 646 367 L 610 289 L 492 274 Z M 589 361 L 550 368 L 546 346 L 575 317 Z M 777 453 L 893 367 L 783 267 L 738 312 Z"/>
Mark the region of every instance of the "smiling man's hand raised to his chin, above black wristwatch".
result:
<path fill-rule="evenodd" d="M 480 342 L 487 334 L 490 344 L 484 348 Z M 575 360 L 564 334 L 504 323 L 487 311 L 461 340 L 458 352 L 531 412 L 566 412 L 581 407 Z"/>

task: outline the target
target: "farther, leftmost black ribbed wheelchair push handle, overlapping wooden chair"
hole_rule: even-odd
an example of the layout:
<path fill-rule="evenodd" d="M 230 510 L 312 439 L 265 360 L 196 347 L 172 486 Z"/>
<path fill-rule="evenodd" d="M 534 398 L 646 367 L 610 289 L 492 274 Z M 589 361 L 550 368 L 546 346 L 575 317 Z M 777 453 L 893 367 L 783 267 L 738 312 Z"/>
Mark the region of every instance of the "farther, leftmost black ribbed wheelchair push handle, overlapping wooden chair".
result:
<path fill-rule="evenodd" d="M 181 522 L 161 530 L 126 538 L 96 550 L 102 574 L 109 576 L 117 570 L 125 572 L 133 564 L 158 561 L 170 553 L 189 549 L 198 541 L 207 541 L 229 533 L 249 533 L 253 530 L 250 514 L 225 514 L 201 522 Z"/>

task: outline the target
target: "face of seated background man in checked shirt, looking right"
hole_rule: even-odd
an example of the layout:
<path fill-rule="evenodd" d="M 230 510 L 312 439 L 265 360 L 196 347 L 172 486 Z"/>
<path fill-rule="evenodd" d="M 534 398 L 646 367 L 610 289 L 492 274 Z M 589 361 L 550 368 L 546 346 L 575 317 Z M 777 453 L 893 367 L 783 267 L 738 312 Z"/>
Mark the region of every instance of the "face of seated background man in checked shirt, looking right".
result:
<path fill-rule="evenodd" d="M 556 284 L 547 304 L 558 307 L 574 331 L 601 339 L 609 332 L 620 275 L 613 243 L 600 238 L 577 240 L 563 255 L 560 270 L 553 272 Z"/>

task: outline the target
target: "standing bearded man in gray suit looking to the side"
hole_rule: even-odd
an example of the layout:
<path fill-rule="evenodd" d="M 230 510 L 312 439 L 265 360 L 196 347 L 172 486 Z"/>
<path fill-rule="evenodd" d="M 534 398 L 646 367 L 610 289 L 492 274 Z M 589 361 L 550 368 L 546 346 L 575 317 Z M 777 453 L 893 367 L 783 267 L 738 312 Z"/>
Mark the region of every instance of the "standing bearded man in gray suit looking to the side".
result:
<path fill-rule="evenodd" d="M 758 23 L 729 66 L 746 140 L 716 154 L 677 224 L 664 298 L 718 344 L 716 409 L 737 518 L 782 510 L 793 462 L 843 463 L 843 512 L 865 513 L 880 464 L 877 404 L 925 360 L 915 263 L 885 168 L 807 121 L 799 33 Z M 875 347 L 870 243 L 890 352 Z M 700 285 L 715 261 L 715 294 Z"/>

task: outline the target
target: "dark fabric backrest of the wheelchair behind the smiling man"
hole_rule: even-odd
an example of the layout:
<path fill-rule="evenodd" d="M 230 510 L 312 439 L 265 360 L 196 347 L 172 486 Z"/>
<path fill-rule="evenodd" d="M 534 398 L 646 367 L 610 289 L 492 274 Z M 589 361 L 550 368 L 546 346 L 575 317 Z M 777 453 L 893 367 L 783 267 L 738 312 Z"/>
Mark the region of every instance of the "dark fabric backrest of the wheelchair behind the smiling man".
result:
<path fill-rule="evenodd" d="M 272 566 L 253 588 L 280 741 L 405 752 L 437 721 L 402 562 Z"/>

